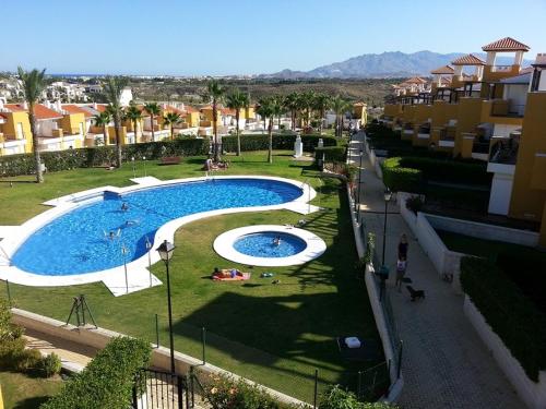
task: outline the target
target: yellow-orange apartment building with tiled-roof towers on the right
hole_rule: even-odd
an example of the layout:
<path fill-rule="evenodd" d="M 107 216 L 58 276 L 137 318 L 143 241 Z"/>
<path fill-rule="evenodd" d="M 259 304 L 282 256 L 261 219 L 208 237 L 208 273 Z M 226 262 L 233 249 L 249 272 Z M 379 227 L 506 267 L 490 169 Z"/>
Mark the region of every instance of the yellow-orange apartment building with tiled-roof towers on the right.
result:
<path fill-rule="evenodd" d="M 546 246 L 546 55 L 522 68 L 529 46 L 506 37 L 431 71 L 429 96 L 397 96 L 383 123 L 415 146 L 487 161 L 489 213 L 542 222 Z M 502 53 L 508 65 L 496 63 Z"/>

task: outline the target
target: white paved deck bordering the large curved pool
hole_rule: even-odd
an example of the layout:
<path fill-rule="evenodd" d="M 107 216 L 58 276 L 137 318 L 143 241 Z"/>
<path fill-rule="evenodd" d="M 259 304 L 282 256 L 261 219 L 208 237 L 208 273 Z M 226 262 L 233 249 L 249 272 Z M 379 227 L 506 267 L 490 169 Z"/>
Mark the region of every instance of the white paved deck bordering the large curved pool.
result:
<path fill-rule="evenodd" d="M 181 226 L 203 219 L 211 216 L 226 215 L 232 213 L 248 213 L 248 212 L 265 212 L 286 209 L 298 214 L 307 215 L 319 210 L 319 207 L 309 205 L 317 192 L 307 183 L 301 183 L 296 180 L 262 177 L 262 176 L 214 176 L 202 178 L 187 178 L 162 181 L 153 177 L 131 179 L 135 184 L 124 188 L 102 187 L 90 189 L 86 191 L 69 194 L 57 197 L 47 202 L 44 205 L 52 208 L 33 217 L 21 226 L 0 226 L 0 279 L 9 280 L 10 282 L 33 286 L 33 287 L 59 287 L 74 286 L 88 282 L 103 281 L 115 297 L 124 296 L 130 292 L 144 290 L 146 288 L 158 286 L 162 281 L 152 275 L 149 269 L 149 256 L 151 264 L 159 261 L 159 255 L 152 250 L 150 254 L 144 254 L 141 257 L 127 263 L 127 281 L 124 266 L 118 266 L 100 272 L 74 274 L 64 276 L 39 275 L 33 274 L 11 265 L 11 256 L 25 242 L 25 240 L 36 230 L 47 225 L 55 218 L 73 210 L 74 208 L 90 204 L 94 201 L 100 201 L 105 192 L 126 194 L 138 190 L 157 188 L 163 185 L 204 181 L 204 180 L 224 180 L 224 179 L 261 179 L 272 180 L 293 184 L 302 190 L 302 194 L 296 200 L 278 205 L 254 206 L 254 207 L 235 207 L 211 212 L 202 212 L 193 215 L 183 216 L 173 219 L 157 229 L 152 243 L 152 249 L 156 249 L 164 240 L 174 241 L 175 232 Z"/>

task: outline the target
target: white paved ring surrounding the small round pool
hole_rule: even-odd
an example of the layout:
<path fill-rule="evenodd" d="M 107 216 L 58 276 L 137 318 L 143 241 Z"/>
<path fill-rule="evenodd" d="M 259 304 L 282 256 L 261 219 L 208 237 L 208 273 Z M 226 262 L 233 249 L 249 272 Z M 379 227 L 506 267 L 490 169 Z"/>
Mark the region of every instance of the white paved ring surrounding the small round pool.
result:
<path fill-rule="evenodd" d="M 241 236 L 270 231 L 296 236 L 304 240 L 307 246 L 304 251 L 286 257 L 256 257 L 242 254 L 234 246 L 237 239 Z M 280 267 L 305 264 L 321 256 L 327 251 L 327 243 L 317 234 L 294 226 L 256 225 L 239 227 L 219 234 L 216 240 L 214 240 L 213 248 L 218 255 L 235 263 L 263 267 Z"/>

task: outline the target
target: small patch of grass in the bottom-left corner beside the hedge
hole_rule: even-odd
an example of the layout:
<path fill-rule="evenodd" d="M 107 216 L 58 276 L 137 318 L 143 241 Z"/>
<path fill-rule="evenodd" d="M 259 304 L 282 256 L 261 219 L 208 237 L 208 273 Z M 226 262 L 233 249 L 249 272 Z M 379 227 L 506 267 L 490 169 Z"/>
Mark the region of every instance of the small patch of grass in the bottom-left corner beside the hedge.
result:
<path fill-rule="evenodd" d="M 0 371 L 3 407 L 5 409 L 35 409 L 61 387 L 60 377 L 49 380 L 22 373 Z"/>

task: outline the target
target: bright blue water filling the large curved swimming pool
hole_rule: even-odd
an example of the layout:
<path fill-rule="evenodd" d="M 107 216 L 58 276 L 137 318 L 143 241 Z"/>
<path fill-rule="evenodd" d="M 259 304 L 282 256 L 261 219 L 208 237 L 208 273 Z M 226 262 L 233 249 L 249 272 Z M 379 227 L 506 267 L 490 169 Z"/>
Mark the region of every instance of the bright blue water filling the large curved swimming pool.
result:
<path fill-rule="evenodd" d="M 226 179 L 158 187 L 104 199 L 75 208 L 34 232 L 12 264 L 40 275 L 72 275 L 123 265 L 146 253 L 167 221 L 201 212 L 275 205 L 301 195 L 293 184 L 257 179 Z M 128 209 L 121 206 L 127 203 Z M 237 217 L 237 216 L 234 216 Z M 110 238 L 110 232 L 112 238 Z M 182 244 L 183 245 L 183 244 Z"/>

